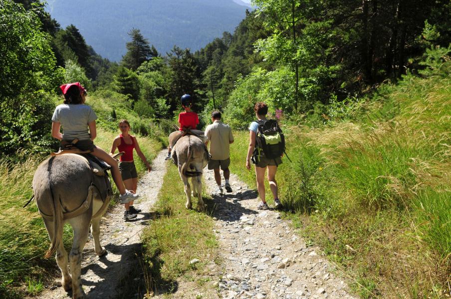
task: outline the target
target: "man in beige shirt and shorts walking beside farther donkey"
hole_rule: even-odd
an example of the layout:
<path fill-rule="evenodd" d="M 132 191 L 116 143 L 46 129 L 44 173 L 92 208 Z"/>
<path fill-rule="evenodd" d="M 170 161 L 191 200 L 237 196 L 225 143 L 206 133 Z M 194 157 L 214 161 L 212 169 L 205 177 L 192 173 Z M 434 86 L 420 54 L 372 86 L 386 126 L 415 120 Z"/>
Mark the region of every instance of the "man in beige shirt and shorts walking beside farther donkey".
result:
<path fill-rule="evenodd" d="M 230 170 L 228 166 L 230 165 L 230 147 L 229 145 L 233 143 L 233 135 L 230 126 L 224 124 L 221 121 L 221 112 L 218 110 L 212 113 L 213 124 L 207 126 L 205 129 L 205 136 L 207 141 L 205 145 L 211 141 L 210 144 L 210 154 L 212 158 L 208 163 L 208 169 L 213 169 L 215 171 L 215 180 L 218 184 L 217 192 L 222 194 L 223 188 L 221 187 L 221 173 L 220 167 L 223 169 L 224 178 L 226 179 L 226 184 L 224 187 L 227 192 L 231 192 L 232 188 L 228 183 L 228 178 L 230 176 Z"/>

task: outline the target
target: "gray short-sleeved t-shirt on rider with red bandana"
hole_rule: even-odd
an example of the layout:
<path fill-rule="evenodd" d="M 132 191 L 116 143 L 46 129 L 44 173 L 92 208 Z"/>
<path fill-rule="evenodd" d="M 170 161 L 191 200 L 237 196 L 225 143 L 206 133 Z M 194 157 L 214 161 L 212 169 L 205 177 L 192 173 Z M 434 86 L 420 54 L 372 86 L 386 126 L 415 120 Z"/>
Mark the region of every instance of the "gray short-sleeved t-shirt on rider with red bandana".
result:
<path fill-rule="evenodd" d="M 85 104 L 61 104 L 56 106 L 52 121 L 61 123 L 63 140 L 72 141 L 91 139 L 88 123 L 97 119 L 91 107 Z"/>

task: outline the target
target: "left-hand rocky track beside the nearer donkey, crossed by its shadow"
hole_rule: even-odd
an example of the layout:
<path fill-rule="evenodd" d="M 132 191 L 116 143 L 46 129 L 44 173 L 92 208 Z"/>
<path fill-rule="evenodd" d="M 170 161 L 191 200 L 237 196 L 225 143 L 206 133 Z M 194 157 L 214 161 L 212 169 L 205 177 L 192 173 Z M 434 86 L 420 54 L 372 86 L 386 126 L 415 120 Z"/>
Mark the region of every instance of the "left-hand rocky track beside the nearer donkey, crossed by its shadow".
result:
<path fill-rule="evenodd" d="M 122 220 L 123 205 L 110 207 L 105 213 L 100 222 L 100 242 L 108 254 L 97 257 L 92 237 L 88 239 L 83 250 L 81 274 L 83 289 L 89 299 L 117 298 L 117 287 L 121 279 L 128 277 L 133 267 L 139 267 L 135 253 L 141 248 L 140 232 L 152 219 L 150 211 L 157 200 L 166 172 L 166 153 L 167 150 L 164 149 L 158 154 L 152 163 L 152 171 L 144 175 L 138 183 L 137 193 L 141 198 L 135 201 L 134 206 L 142 209 L 142 212 L 137 218 L 128 222 Z M 63 288 L 54 285 L 49 286 L 38 298 L 70 297 Z M 130 298 L 136 298 L 136 295 L 133 294 Z"/>

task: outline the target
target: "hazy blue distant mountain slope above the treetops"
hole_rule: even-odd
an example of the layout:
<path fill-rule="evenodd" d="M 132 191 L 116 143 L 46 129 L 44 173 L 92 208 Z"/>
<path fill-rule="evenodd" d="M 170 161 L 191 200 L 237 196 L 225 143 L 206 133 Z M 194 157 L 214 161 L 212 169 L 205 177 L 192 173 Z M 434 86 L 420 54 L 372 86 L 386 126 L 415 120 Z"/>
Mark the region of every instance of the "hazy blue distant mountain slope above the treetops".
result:
<path fill-rule="evenodd" d="M 244 18 L 244 2 L 233 0 L 48 0 L 47 10 L 62 28 L 74 24 L 105 58 L 119 61 L 132 27 L 165 54 L 174 45 L 204 47 Z"/>

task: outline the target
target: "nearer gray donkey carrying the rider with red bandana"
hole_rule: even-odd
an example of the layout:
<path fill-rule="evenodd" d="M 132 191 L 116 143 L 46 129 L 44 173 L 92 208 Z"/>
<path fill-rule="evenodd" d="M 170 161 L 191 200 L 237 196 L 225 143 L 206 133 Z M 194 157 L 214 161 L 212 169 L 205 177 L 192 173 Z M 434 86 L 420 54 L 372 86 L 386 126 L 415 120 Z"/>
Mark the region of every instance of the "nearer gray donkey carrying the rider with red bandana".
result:
<path fill-rule="evenodd" d="M 34 173 L 33 192 L 51 242 L 45 258 L 56 251 L 62 286 L 66 291 L 72 289 L 73 299 L 86 297 L 81 286 L 81 254 L 91 221 L 95 253 L 98 256 L 106 253 L 100 245 L 99 226 L 100 217 L 108 207 L 110 187 L 107 176 L 94 175 L 88 160 L 72 153 L 43 161 Z M 65 222 L 72 226 L 74 234 L 69 259 L 62 242 Z M 68 271 L 68 260 L 72 277 Z"/>

